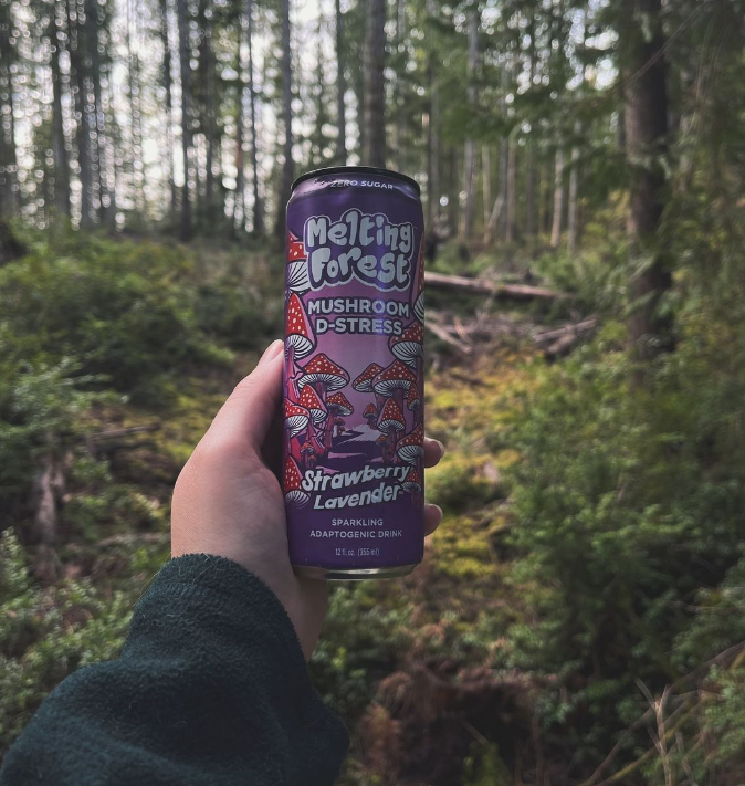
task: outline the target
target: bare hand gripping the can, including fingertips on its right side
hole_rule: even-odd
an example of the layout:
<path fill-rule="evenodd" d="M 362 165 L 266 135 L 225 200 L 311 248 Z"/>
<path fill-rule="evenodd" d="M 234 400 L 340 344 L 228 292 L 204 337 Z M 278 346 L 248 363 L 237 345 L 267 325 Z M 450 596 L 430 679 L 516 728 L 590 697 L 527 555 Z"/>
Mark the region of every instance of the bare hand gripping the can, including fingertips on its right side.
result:
<path fill-rule="evenodd" d="M 327 584 L 298 578 L 287 555 L 281 462 L 283 343 L 270 345 L 256 368 L 235 387 L 181 470 L 174 490 L 171 554 L 216 554 L 259 576 L 280 598 L 305 657 L 318 640 Z M 442 458 L 424 440 L 424 467 Z M 424 506 L 431 534 L 442 518 Z"/>

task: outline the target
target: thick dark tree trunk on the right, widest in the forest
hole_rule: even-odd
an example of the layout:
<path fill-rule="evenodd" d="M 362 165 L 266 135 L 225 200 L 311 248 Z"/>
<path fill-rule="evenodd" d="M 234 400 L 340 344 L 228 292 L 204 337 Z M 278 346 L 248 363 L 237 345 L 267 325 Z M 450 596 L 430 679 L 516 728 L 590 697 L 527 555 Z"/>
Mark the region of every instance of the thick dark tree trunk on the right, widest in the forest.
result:
<path fill-rule="evenodd" d="M 625 72 L 626 149 L 631 184 L 628 231 L 636 258 L 628 321 L 631 352 L 646 361 L 672 348 L 671 321 L 660 300 L 672 285 L 657 238 L 664 209 L 668 94 L 661 0 L 625 0 L 621 52 Z M 638 381 L 641 381 L 639 379 Z"/>

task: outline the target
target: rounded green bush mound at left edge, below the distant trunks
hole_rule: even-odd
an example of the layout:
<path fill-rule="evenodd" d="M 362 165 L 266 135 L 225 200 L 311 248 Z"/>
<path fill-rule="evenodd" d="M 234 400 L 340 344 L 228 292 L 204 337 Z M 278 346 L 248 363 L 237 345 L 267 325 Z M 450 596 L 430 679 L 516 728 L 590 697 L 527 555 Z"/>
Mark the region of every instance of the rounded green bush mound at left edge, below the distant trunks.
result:
<path fill-rule="evenodd" d="M 182 251 L 153 242 L 72 233 L 36 242 L 0 270 L 6 363 L 75 358 L 81 374 L 157 399 L 165 377 L 229 357 L 200 329 L 192 270 Z"/>

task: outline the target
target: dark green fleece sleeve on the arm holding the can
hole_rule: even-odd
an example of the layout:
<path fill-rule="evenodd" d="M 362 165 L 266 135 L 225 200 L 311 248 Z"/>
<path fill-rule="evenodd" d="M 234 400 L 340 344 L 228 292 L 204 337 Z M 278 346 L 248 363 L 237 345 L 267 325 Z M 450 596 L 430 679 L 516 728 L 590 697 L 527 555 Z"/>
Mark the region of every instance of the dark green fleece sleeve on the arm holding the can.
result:
<path fill-rule="evenodd" d="M 189 555 L 139 601 L 122 657 L 46 699 L 0 786 L 322 786 L 347 744 L 276 596 L 228 559 Z"/>

